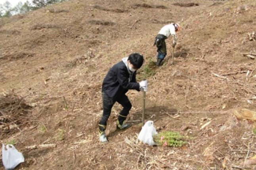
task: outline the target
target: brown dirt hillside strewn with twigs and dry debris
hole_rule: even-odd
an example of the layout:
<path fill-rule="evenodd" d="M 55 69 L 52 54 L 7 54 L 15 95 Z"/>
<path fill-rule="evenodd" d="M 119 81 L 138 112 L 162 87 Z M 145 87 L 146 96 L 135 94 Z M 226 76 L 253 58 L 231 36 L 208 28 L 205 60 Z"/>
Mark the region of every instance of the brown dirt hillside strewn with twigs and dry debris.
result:
<path fill-rule="evenodd" d="M 0 142 L 23 153 L 19 170 L 256 170 L 255 117 L 234 114 L 256 111 L 255 20 L 255 0 L 70 0 L 2 18 Z M 170 38 L 155 67 L 155 36 L 173 21 L 174 64 Z M 102 80 L 132 52 L 145 58 L 145 119 L 189 136 L 187 145 L 138 142 L 142 93 L 133 90 L 132 127 L 115 130 L 116 104 L 109 142 L 99 143 Z"/>

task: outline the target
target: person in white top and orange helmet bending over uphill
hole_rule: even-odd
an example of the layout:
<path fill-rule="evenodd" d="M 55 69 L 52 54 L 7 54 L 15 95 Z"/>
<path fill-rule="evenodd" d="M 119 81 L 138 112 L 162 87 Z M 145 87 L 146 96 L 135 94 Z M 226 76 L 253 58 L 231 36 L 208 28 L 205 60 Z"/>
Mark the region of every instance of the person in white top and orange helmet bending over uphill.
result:
<path fill-rule="evenodd" d="M 178 39 L 176 32 L 179 32 L 180 29 L 181 27 L 178 23 L 171 23 L 163 26 L 160 29 L 157 36 L 155 37 L 154 45 L 157 46 L 157 62 L 156 62 L 157 66 L 161 65 L 162 60 L 164 60 L 167 54 L 165 39 L 167 39 L 168 37 L 170 37 L 170 35 L 172 35 L 173 37 L 172 47 L 175 48 L 177 39 Z"/>

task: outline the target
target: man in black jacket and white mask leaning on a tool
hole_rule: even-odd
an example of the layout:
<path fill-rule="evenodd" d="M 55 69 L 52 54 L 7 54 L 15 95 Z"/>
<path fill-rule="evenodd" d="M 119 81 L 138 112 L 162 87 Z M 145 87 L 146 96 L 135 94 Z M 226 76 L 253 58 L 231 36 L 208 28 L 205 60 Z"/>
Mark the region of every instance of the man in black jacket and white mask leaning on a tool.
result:
<path fill-rule="evenodd" d="M 99 121 L 99 141 L 107 142 L 105 129 L 111 109 L 115 102 L 123 106 L 117 118 L 117 129 L 127 129 L 131 125 L 124 123 L 129 114 L 132 104 L 126 96 L 130 89 L 137 91 L 147 90 L 147 80 L 136 82 L 136 70 L 143 64 L 143 56 L 139 53 L 132 53 L 122 61 L 115 64 L 107 73 L 102 84 L 103 114 Z"/>

